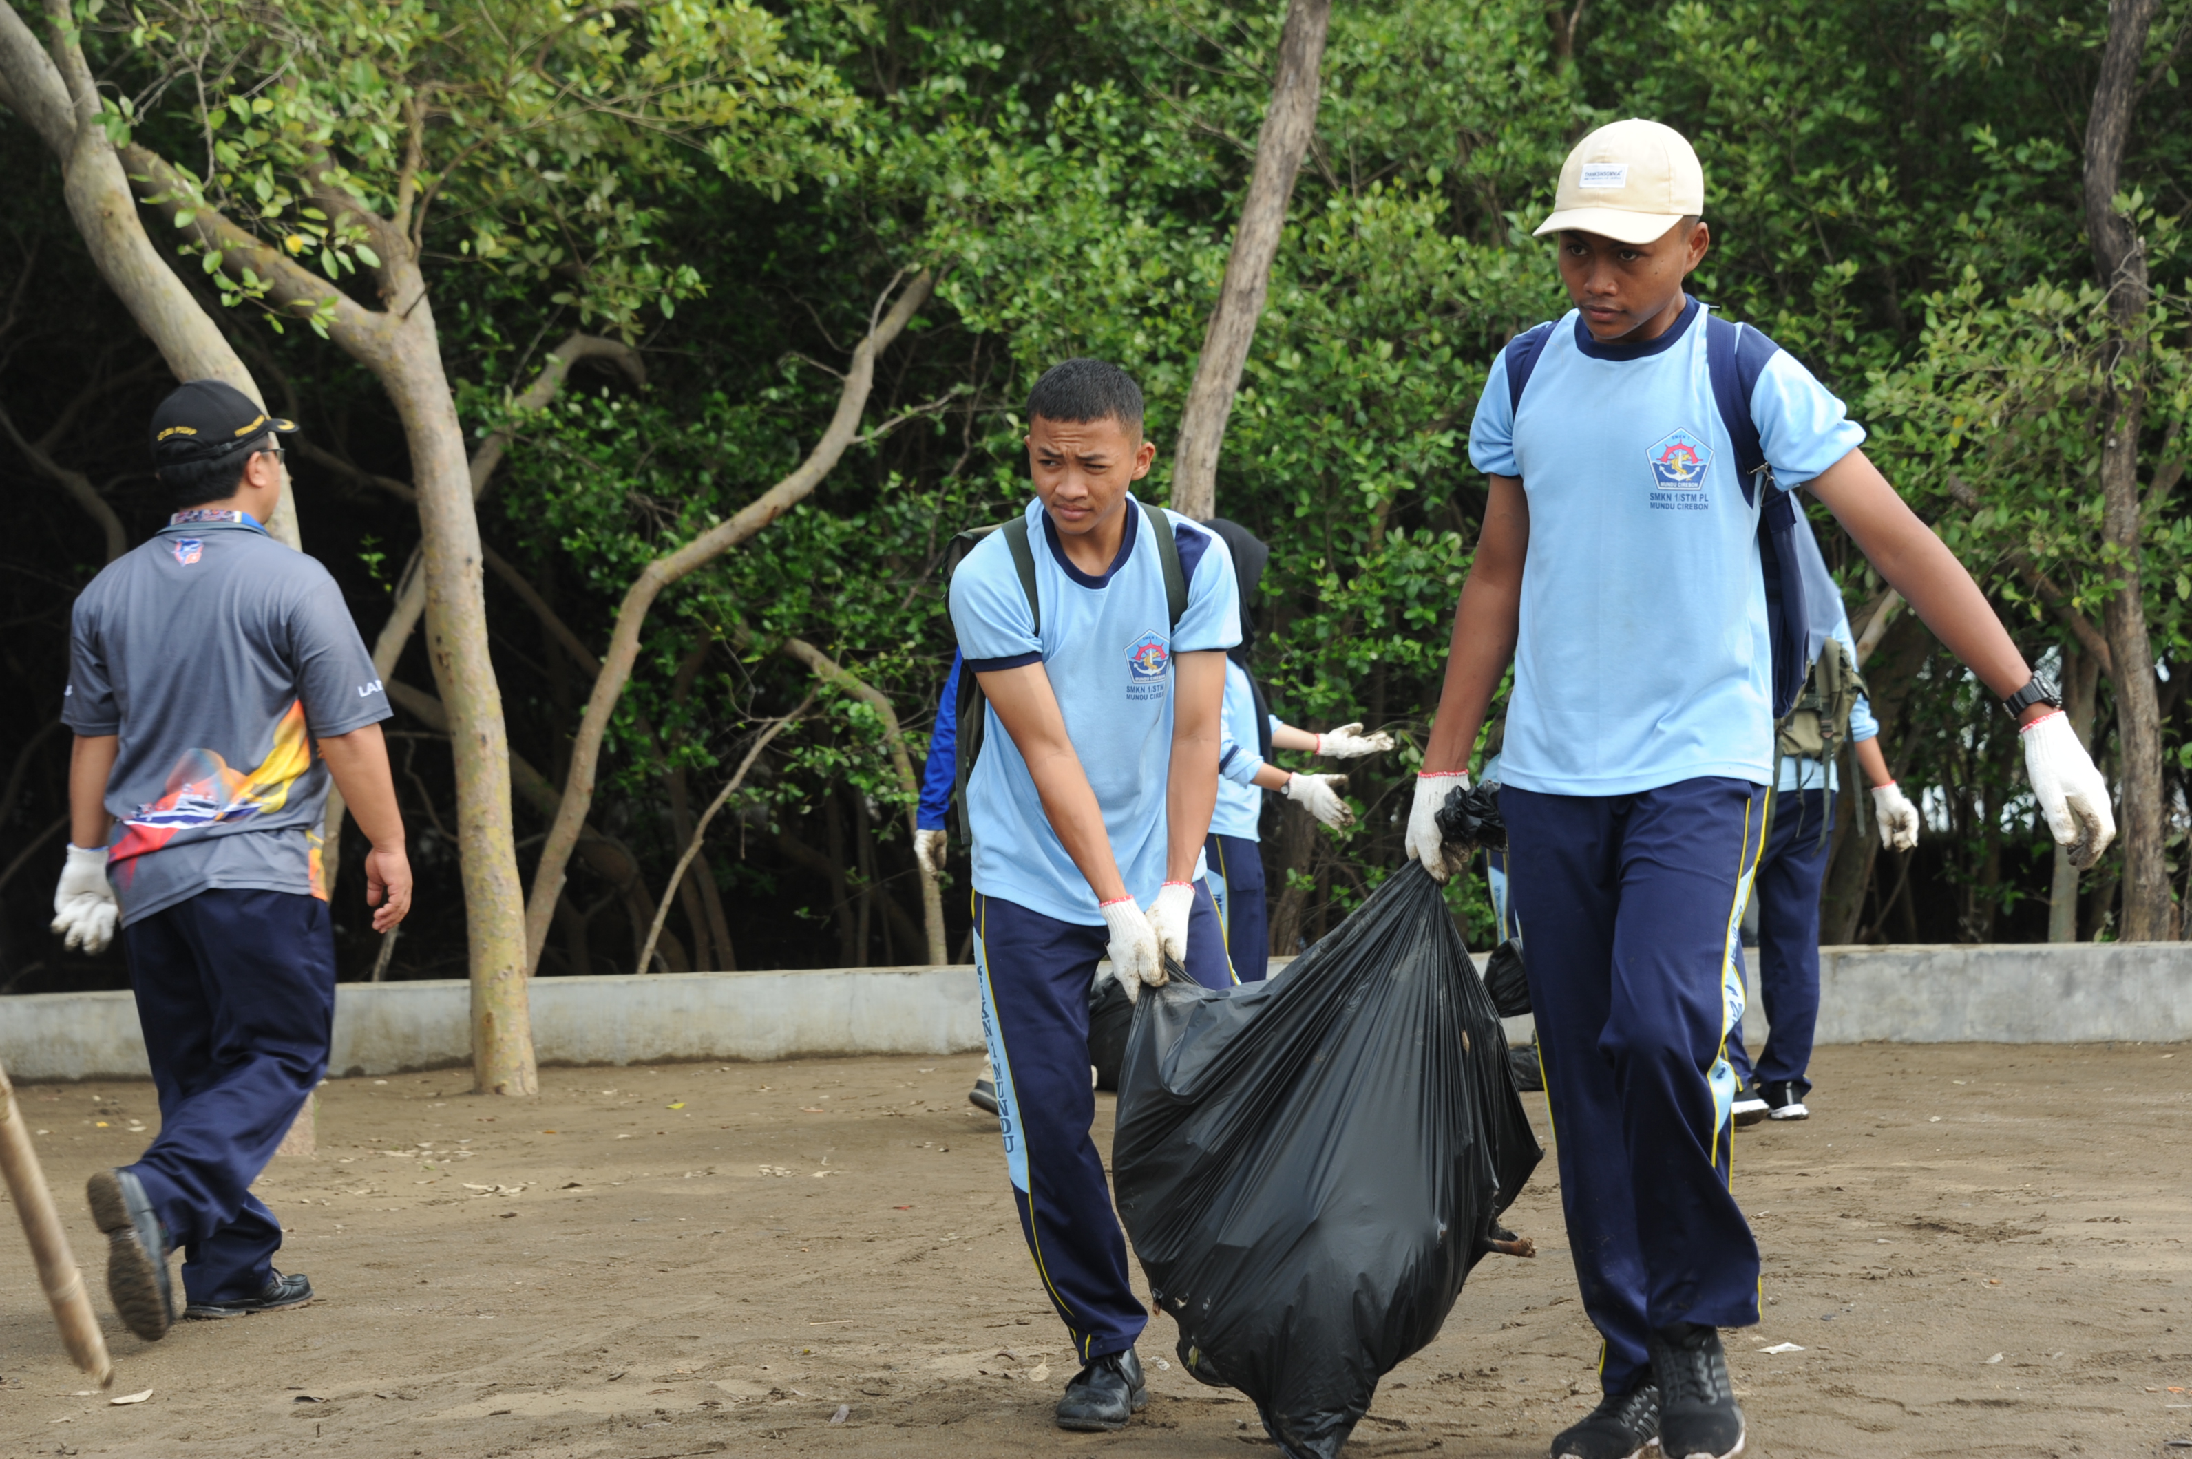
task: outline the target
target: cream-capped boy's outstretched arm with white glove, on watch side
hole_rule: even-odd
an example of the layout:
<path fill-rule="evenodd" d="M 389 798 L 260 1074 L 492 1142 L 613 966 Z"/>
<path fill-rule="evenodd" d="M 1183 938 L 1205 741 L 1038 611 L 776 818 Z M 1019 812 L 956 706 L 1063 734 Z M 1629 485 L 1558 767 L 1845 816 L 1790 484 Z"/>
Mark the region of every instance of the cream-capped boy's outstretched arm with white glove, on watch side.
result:
<path fill-rule="evenodd" d="M 2032 679 L 2032 668 L 1995 618 L 1986 594 L 1964 572 L 1964 563 L 1918 521 L 1863 451 L 1850 451 L 1806 484 L 1826 502 L 1887 585 L 1909 600 L 1925 627 L 1933 629 L 1949 653 L 1964 659 L 1986 688 L 2008 699 Z M 2025 773 L 2047 828 L 2058 843 L 2071 848 L 2074 865 L 2091 865 L 2115 839 L 2109 786 L 2060 710 L 2050 710 L 2045 703 L 2028 705 L 2019 721 Z"/>

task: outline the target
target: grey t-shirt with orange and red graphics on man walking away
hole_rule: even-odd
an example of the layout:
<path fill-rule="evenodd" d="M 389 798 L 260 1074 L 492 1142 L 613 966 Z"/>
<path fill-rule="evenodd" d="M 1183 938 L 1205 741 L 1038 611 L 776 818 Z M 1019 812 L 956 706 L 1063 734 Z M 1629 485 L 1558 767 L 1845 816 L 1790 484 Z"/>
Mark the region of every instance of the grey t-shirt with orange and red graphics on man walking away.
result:
<path fill-rule="evenodd" d="M 107 876 L 123 924 L 213 887 L 324 900 L 313 740 L 381 719 L 335 581 L 250 517 L 171 524 L 107 563 L 77 598 L 61 721 L 121 736 Z"/>

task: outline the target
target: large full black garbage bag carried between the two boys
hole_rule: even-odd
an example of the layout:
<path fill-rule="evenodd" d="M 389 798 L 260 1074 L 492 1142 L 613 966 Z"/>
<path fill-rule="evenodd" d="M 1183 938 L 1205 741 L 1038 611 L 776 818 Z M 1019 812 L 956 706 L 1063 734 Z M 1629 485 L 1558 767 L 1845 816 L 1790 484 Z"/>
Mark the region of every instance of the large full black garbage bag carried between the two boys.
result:
<path fill-rule="evenodd" d="M 1407 865 L 1280 977 L 1142 995 L 1111 1183 L 1199 1380 L 1333 1459 L 1438 1336 L 1541 1150 L 1438 883 Z"/>

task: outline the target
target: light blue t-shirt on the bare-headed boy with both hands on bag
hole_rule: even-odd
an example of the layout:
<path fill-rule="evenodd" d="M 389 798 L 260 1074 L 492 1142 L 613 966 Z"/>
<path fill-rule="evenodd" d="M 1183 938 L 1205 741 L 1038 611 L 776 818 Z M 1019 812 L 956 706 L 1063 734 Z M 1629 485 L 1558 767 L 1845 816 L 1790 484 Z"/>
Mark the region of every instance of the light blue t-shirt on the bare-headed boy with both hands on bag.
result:
<path fill-rule="evenodd" d="M 1013 550 L 993 532 L 951 574 L 951 624 L 967 673 L 1041 664 L 1065 714 L 1065 734 L 1103 806 L 1111 854 L 1127 892 L 1144 907 L 1164 887 L 1164 786 L 1173 760 L 1173 655 L 1232 648 L 1241 642 L 1241 605 L 1232 554 L 1212 552 L 1217 537 L 1166 510 L 1188 578 L 1188 609 L 1168 631 L 1164 563 L 1149 524 L 1127 497 L 1118 556 L 1103 576 L 1065 561 L 1065 548 L 1041 502 L 1030 502 L 1035 596 L 1013 572 Z M 1019 903 L 1061 922 L 1100 927 L 1096 894 L 1043 815 L 1035 778 L 1013 736 L 984 703 L 982 756 L 967 784 L 973 832 L 973 889 Z M 1201 876 L 1201 859 L 1195 863 Z"/>

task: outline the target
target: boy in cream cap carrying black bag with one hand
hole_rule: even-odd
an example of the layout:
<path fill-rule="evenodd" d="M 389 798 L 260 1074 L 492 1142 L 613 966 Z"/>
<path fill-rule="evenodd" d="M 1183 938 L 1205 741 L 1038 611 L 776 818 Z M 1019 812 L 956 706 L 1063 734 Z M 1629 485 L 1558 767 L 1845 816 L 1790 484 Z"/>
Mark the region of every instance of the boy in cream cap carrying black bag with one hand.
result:
<path fill-rule="evenodd" d="M 1758 1321 L 1758 1244 L 1727 1190 L 1723 1038 L 1743 1008 L 1732 949 L 1778 681 L 1793 699 L 1760 548 L 1760 515 L 1771 530 L 1786 508 L 1778 491 L 1826 502 L 2003 697 L 2071 859 L 2091 863 L 2115 835 L 2054 688 L 1865 460 L 1841 401 L 1683 294 L 1710 245 L 1703 202 L 1697 153 L 1648 120 L 1600 127 L 1561 169 L 1537 232 L 1556 234 L 1576 309 L 1517 335 L 1477 401 L 1471 460 L 1491 502 L 1407 826 L 1434 876 L 1466 863 L 1436 813 L 1469 782 L 1512 659 L 1499 808 L 1561 1203 L 1605 1336 L 1605 1402 L 1554 1439 L 1554 1459 L 1629 1459 L 1653 1437 L 1666 1459 L 1745 1450 L 1719 1328 Z M 1771 471 L 1745 471 L 1751 456 Z"/>

